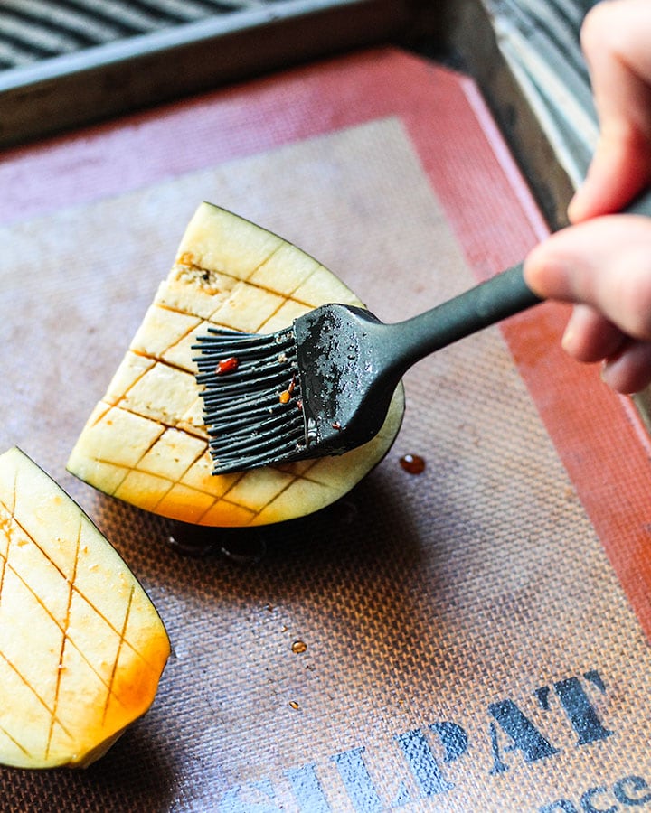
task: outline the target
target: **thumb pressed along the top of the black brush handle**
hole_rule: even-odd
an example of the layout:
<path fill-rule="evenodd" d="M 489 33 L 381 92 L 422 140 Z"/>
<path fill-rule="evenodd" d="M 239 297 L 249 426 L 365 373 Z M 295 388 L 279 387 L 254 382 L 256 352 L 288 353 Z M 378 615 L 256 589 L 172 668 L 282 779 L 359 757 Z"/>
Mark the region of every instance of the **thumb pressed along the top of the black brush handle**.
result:
<path fill-rule="evenodd" d="M 651 219 L 609 215 L 562 229 L 533 249 L 524 277 L 544 299 L 589 304 L 651 340 Z"/>

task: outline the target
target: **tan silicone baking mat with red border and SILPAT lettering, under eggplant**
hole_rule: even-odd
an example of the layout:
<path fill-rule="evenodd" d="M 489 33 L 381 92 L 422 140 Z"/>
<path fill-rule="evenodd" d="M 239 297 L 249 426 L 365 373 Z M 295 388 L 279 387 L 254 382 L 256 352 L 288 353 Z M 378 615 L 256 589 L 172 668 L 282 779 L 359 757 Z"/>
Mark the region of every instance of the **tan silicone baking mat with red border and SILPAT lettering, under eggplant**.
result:
<path fill-rule="evenodd" d="M 354 54 L 5 154 L 0 184 L 2 446 L 88 511 L 174 648 L 101 761 L 2 769 L 0 808 L 651 800 L 648 442 L 561 354 L 560 306 L 421 362 L 372 474 L 246 547 L 218 531 L 184 556 L 172 523 L 65 472 L 202 200 L 297 243 L 386 321 L 524 256 L 544 226 L 469 79 Z"/>

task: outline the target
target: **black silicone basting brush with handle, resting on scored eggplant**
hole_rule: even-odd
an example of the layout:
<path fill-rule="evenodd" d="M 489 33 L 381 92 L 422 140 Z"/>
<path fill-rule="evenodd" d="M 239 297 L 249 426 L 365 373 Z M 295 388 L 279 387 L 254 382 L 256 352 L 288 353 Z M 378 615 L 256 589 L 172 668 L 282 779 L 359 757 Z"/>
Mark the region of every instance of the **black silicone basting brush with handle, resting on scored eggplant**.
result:
<path fill-rule="evenodd" d="M 393 324 L 326 304 L 267 335 L 208 328 L 194 345 L 214 474 L 341 454 L 376 435 L 413 364 L 541 300 L 522 264 Z"/>

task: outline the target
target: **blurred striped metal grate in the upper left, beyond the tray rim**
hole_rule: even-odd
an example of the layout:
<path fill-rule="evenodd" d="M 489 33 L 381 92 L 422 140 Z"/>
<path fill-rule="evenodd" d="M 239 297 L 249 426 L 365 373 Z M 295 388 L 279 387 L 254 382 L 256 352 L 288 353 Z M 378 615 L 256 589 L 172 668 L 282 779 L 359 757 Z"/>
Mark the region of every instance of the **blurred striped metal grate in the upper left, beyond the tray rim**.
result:
<path fill-rule="evenodd" d="M 278 0 L 2 0 L 0 70 Z"/>

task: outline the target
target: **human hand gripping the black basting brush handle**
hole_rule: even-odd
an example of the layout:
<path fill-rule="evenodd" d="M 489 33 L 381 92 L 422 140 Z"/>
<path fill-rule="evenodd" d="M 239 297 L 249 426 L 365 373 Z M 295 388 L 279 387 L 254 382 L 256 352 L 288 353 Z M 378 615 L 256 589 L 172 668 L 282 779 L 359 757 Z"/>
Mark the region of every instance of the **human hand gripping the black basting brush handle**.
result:
<path fill-rule="evenodd" d="M 574 358 L 603 362 L 620 392 L 651 382 L 651 218 L 612 214 L 651 185 L 651 3 L 605 0 L 581 44 L 599 115 L 599 142 L 571 201 L 571 225 L 534 248 L 527 283 L 576 303 L 563 336 Z"/>

